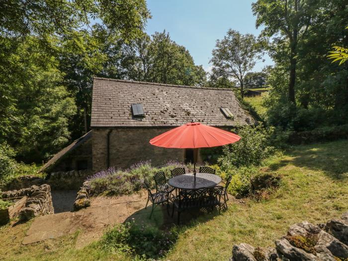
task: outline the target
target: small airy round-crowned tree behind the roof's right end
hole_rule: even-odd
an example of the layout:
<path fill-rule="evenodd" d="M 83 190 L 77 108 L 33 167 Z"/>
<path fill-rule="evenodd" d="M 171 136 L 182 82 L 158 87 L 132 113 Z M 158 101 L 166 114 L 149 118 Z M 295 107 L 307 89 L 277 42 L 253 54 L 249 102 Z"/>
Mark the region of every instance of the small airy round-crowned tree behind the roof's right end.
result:
<path fill-rule="evenodd" d="M 241 34 L 229 29 L 222 40 L 217 40 L 210 62 L 212 72 L 217 77 L 238 79 L 243 98 L 244 76 L 254 68 L 256 59 L 260 59 L 260 48 L 254 35 Z"/>

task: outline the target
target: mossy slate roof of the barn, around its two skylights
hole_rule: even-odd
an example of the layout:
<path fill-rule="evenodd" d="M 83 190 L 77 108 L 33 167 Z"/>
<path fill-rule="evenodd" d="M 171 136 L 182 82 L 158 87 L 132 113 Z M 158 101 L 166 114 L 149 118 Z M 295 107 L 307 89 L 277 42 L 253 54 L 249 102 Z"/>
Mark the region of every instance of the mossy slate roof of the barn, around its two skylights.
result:
<path fill-rule="evenodd" d="M 133 103 L 143 105 L 144 118 L 132 116 Z M 228 107 L 234 119 L 220 107 Z M 255 124 L 232 89 L 93 79 L 92 128 L 175 127 L 192 120 L 218 127 Z"/>

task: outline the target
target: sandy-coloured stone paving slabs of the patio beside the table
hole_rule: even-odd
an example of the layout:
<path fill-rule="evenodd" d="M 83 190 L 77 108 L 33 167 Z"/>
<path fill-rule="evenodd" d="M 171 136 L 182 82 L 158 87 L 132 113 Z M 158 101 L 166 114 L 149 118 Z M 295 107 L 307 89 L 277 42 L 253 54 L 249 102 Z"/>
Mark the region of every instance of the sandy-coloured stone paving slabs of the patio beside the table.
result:
<path fill-rule="evenodd" d="M 22 242 L 23 245 L 40 242 L 46 239 L 58 238 L 72 234 L 81 229 L 76 242 L 76 248 L 83 248 L 93 241 L 99 240 L 105 229 L 116 223 L 125 221 L 147 225 L 153 223 L 162 228 L 168 228 L 176 223 L 176 213 L 172 218 L 167 214 L 167 206 L 156 206 L 151 220 L 149 216 L 152 206 L 145 209 L 146 191 L 140 194 L 122 197 L 95 197 L 91 206 L 77 212 L 62 212 L 34 219 Z M 172 214 L 172 207 L 170 208 Z M 184 212 L 180 220 L 188 221 L 201 212 Z"/>

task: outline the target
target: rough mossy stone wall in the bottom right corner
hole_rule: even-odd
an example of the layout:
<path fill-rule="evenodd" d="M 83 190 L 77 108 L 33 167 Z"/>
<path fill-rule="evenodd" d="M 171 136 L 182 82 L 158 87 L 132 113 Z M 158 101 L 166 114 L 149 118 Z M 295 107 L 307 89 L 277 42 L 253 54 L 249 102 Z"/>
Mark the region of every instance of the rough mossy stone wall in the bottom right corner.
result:
<path fill-rule="evenodd" d="M 275 241 L 275 248 L 242 243 L 233 247 L 232 255 L 230 261 L 347 261 L 348 212 L 326 224 L 294 224 Z"/>

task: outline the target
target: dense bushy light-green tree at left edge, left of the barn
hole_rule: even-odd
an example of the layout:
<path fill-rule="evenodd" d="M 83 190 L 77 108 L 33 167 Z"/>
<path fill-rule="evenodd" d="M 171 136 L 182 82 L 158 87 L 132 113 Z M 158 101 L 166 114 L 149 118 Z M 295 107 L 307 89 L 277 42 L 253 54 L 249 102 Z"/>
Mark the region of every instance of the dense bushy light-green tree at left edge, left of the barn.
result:
<path fill-rule="evenodd" d="M 54 44 L 52 42 L 51 44 Z M 41 52 L 36 37 L 0 37 L 0 143 L 31 163 L 47 159 L 70 139 L 69 122 L 76 113 L 74 98 L 60 83 L 53 53 Z"/>

